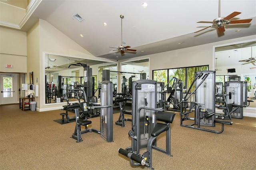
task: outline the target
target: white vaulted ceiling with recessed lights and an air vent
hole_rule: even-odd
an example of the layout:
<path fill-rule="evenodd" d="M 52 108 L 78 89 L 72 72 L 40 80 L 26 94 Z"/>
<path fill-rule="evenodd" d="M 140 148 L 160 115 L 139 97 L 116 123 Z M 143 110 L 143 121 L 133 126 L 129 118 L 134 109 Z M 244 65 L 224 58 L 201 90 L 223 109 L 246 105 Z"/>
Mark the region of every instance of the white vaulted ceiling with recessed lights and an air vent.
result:
<path fill-rule="evenodd" d="M 143 2 L 147 2 L 148 8 L 142 8 Z M 216 28 L 194 33 L 211 25 L 196 22 L 218 18 L 218 3 L 218 0 L 42 0 L 21 30 L 27 31 L 41 18 L 92 55 L 109 59 L 119 56 L 120 60 L 256 35 L 255 0 L 221 0 L 221 16 L 242 12 L 233 19 L 252 18 L 250 24 L 225 26 L 222 34 Z M 77 13 L 84 18 L 82 22 L 74 18 Z M 109 52 L 110 47 L 121 45 L 120 15 L 124 15 L 124 46 L 137 49 L 136 53 L 126 52 L 121 56 L 120 52 Z M 238 29 L 241 31 L 235 32 Z"/>

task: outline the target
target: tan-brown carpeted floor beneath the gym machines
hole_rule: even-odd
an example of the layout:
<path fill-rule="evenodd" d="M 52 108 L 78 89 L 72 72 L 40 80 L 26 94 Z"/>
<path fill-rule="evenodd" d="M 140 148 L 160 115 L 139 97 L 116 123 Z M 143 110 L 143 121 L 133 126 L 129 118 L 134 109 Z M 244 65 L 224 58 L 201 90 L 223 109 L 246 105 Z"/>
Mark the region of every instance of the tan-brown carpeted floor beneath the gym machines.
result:
<path fill-rule="evenodd" d="M 74 122 L 60 125 L 53 121 L 61 119 L 62 112 L 21 111 L 19 105 L 0 105 L 0 170 L 148 169 L 131 166 L 128 158 L 118 154 L 118 148 L 131 146 L 131 122 L 126 127 L 113 125 L 114 142 L 86 133 L 76 143 L 70 138 Z M 118 117 L 113 114 L 113 124 Z M 89 128 L 100 129 L 99 117 L 90 121 Z M 152 166 L 156 170 L 256 170 L 256 118 L 232 121 L 224 132 L 215 134 L 180 127 L 176 114 L 171 132 L 173 157 L 153 150 Z M 164 134 L 157 141 L 164 148 Z"/>

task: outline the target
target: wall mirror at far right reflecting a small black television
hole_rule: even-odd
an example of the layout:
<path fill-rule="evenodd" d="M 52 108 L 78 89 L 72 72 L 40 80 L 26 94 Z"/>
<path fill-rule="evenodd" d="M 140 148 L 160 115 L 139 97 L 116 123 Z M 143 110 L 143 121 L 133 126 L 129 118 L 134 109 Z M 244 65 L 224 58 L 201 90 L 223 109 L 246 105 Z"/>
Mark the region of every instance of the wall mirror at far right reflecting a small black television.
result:
<path fill-rule="evenodd" d="M 214 47 L 216 82 L 225 82 L 230 76 L 247 81 L 248 100 L 256 97 L 256 40 Z M 249 107 L 256 107 L 256 100 Z"/>

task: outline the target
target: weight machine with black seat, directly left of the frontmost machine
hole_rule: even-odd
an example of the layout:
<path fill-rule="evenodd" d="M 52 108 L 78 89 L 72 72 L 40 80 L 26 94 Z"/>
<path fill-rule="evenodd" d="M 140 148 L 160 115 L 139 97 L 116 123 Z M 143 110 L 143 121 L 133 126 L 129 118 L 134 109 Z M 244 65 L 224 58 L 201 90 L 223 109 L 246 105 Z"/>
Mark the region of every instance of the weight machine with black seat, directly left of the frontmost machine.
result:
<path fill-rule="evenodd" d="M 78 96 L 79 103 L 75 103 L 72 105 L 63 106 L 64 110 L 66 109 L 74 109 L 76 115 L 76 127 L 74 133 L 72 134 L 72 138 L 76 139 L 76 142 L 82 142 L 81 134 L 87 132 L 96 132 L 102 136 L 106 141 L 113 142 L 113 104 L 112 104 L 112 82 L 111 81 L 102 81 L 100 83 L 100 105 L 97 106 L 89 106 L 89 101 L 87 101 L 86 92 L 83 89 L 73 89 L 70 93 L 78 93 L 82 91 L 82 95 L 84 95 L 84 102 L 80 102 L 80 97 Z M 100 130 L 96 130 L 94 128 L 88 128 L 88 125 L 92 123 L 92 121 L 88 121 L 88 109 L 97 109 L 100 108 Z M 82 115 L 80 115 L 80 110 L 82 111 Z M 81 125 L 85 127 L 85 130 L 81 130 Z"/>

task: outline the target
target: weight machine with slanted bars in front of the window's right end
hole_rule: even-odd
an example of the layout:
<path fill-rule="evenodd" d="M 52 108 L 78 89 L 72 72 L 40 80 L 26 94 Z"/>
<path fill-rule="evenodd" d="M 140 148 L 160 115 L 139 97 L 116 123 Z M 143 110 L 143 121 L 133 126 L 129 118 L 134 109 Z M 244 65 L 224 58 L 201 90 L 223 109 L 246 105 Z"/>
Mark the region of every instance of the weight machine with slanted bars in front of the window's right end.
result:
<path fill-rule="evenodd" d="M 193 91 L 192 87 L 194 87 Z M 215 71 L 197 71 L 195 73 L 195 79 L 181 101 L 180 126 L 222 133 L 224 131 L 224 124 L 233 124 L 229 121 L 215 120 L 215 87 Z M 189 101 L 192 95 L 194 95 L 195 101 Z M 189 114 L 194 114 L 194 117 L 189 117 Z M 194 123 L 192 125 L 185 125 L 183 122 L 187 120 L 192 120 Z M 215 127 L 215 123 L 222 124 L 221 131 L 200 127 Z"/>

